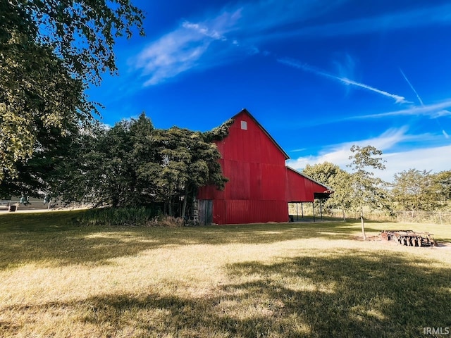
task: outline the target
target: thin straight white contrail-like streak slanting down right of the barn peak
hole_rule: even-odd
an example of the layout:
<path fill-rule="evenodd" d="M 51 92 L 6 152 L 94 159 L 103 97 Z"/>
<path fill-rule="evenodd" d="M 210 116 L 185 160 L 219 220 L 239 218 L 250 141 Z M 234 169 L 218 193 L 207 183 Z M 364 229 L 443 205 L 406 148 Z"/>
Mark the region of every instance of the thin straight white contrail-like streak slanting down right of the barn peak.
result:
<path fill-rule="evenodd" d="M 377 88 L 371 87 L 368 84 L 364 84 L 364 83 L 361 83 L 361 82 L 357 82 L 357 81 L 354 81 L 354 80 L 347 79 L 346 77 L 338 77 L 336 75 L 332 75 L 332 74 L 326 73 L 323 70 L 319 70 L 318 68 L 314 68 L 313 66 L 308 65 L 307 63 L 301 63 L 299 61 L 296 61 L 296 60 L 293 60 L 293 59 L 290 59 L 290 58 L 278 58 L 277 61 L 280 62 L 280 63 L 283 63 L 285 65 L 290 65 L 291 67 L 294 67 L 294 68 L 297 68 L 297 69 L 300 69 L 300 70 L 304 70 L 304 71 L 309 72 L 309 73 L 314 73 L 316 75 L 320 75 L 322 77 L 326 77 L 326 78 L 328 78 L 330 80 L 339 81 L 342 84 L 352 85 L 352 86 L 355 86 L 355 87 L 359 87 L 359 88 L 362 88 L 362 89 L 369 90 L 370 92 L 374 92 L 376 94 L 380 94 L 380 95 L 389 97 L 390 99 L 394 99 L 395 103 L 397 103 L 397 104 L 409 103 L 409 101 L 407 101 L 404 96 L 391 94 L 391 93 L 385 92 L 385 91 L 383 91 L 381 89 L 377 89 Z"/>

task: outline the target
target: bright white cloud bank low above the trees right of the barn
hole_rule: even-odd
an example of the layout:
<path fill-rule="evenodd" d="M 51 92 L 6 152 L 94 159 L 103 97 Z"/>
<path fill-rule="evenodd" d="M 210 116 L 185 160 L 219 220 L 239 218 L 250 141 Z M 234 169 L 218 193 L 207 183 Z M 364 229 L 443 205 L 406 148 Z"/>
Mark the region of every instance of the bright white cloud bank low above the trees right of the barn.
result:
<path fill-rule="evenodd" d="M 398 130 L 388 130 L 378 137 L 372 139 L 359 140 L 355 142 L 345 142 L 335 144 L 323 149 L 317 156 L 304 156 L 288 161 L 288 165 L 297 170 L 302 170 L 307 164 L 330 162 L 339 165 L 343 170 L 349 171 L 347 165 L 350 163 L 349 157 L 352 155 L 350 148 L 353 144 L 366 146 L 371 144 L 383 151 L 385 160 L 385 170 L 374 170 L 377 177 L 390 182 L 395 173 L 402 170 L 415 168 L 418 170 L 433 170 L 434 172 L 450 170 L 450 161 L 443 154 L 451 154 L 451 145 L 430 146 L 428 148 L 417 147 L 407 151 L 395 151 L 396 147 L 403 142 L 420 142 L 425 138 L 434 139 L 433 135 L 409 135 L 407 128 Z"/>

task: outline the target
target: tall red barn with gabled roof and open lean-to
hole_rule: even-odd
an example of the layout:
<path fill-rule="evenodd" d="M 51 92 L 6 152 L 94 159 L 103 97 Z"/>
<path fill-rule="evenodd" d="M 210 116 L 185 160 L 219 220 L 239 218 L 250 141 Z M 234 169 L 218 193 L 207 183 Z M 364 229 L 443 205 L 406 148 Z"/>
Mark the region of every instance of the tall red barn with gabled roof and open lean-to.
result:
<path fill-rule="evenodd" d="M 288 202 L 330 194 L 328 187 L 285 165 L 288 154 L 246 109 L 233 116 L 228 136 L 215 143 L 228 182 L 223 191 L 199 189 L 201 223 L 287 222 Z"/>

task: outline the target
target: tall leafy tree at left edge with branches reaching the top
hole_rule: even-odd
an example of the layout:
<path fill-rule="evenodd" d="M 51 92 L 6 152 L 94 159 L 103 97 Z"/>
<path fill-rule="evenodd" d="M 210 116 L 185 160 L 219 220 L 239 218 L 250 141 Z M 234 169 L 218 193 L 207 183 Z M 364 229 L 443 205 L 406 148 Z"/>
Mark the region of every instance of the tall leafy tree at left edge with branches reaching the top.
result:
<path fill-rule="evenodd" d="M 41 139 L 96 112 L 84 89 L 116 73 L 116 37 L 141 34 L 130 0 L 0 1 L 0 182 Z"/>

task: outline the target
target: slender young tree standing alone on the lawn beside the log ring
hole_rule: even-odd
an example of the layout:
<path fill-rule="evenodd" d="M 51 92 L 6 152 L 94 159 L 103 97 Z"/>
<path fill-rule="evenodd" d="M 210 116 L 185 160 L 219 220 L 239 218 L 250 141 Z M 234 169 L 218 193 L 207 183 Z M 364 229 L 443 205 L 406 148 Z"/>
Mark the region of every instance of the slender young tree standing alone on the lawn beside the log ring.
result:
<path fill-rule="evenodd" d="M 378 177 L 374 177 L 372 170 L 384 170 L 385 165 L 381 158 L 382 151 L 374 146 L 351 147 L 351 163 L 348 165 L 352 169 L 352 187 L 354 190 L 352 204 L 360 212 L 362 223 L 362 234 L 366 240 L 364 224 L 364 206 L 369 208 L 388 207 L 387 196 L 383 189 L 384 182 Z"/>

